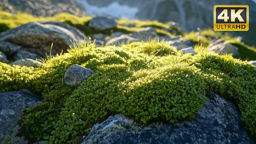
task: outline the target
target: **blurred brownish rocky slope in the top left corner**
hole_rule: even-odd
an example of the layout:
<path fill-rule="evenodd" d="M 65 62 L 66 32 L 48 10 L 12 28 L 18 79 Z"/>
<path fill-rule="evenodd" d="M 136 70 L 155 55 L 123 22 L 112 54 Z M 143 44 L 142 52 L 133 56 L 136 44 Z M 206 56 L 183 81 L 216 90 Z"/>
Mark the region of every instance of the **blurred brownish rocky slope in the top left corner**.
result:
<path fill-rule="evenodd" d="M 1 0 L 0 7 L 11 13 L 21 11 L 43 17 L 61 12 L 86 16 L 83 6 L 75 0 Z"/>

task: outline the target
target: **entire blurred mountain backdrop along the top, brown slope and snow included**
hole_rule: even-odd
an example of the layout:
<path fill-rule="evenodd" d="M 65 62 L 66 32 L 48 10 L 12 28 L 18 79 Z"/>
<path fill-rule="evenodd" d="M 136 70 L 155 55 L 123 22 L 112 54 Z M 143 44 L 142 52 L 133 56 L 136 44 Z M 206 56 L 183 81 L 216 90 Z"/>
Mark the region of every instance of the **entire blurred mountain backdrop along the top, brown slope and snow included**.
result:
<path fill-rule="evenodd" d="M 229 32 L 242 36 L 247 45 L 256 45 L 256 0 L 0 0 L 3 11 L 53 16 L 67 12 L 83 16 L 110 16 L 176 22 L 184 32 L 213 27 L 213 6 L 248 5 L 249 31 Z"/>

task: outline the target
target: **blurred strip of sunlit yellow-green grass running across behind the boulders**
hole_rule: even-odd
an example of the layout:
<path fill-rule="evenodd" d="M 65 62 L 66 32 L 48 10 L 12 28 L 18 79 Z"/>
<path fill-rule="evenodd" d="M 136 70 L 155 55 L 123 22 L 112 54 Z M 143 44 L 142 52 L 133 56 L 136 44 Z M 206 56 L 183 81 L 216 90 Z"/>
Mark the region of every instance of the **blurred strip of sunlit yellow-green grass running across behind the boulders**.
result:
<path fill-rule="evenodd" d="M 107 35 L 111 35 L 113 32 L 123 32 L 123 33 L 132 33 L 134 31 L 143 30 L 145 27 L 155 27 L 156 32 L 159 36 L 169 36 L 173 37 L 175 35 L 182 35 L 181 29 L 177 27 L 171 27 L 170 23 L 161 23 L 158 21 L 142 21 L 142 20 L 129 20 L 129 19 L 117 19 L 118 26 L 113 29 L 105 30 L 105 31 L 95 31 L 91 27 L 89 27 L 89 20 L 91 17 L 77 17 L 75 15 L 60 13 L 53 17 L 34 17 L 30 14 L 26 13 L 18 13 L 17 15 L 12 15 L 9 12 L 5 12 L 0 10 L 0 33 L 8 30 L 9 28 L 18 27 L 22 24 L 26 24 L 28 22 L 39 22 L 39 21 L 58 21 L 62 22 L 66 25 L 76 27 L 82 30 L 87 36 L 91 36 L 95 33 L 103 33 Z M 128 27 L 127 25 L 131 25 Z M 199 32 L 190 32 L 188 34 L 184 34 L 181 39 L 190 39 L 192 43 L 207 47 L 211 40 L 214 38 L 221 38 L 227 40 L 226 42 L 236 45 L 239 48 L 239 55 L 235 55 L 235 58 L 241 58 L 242 60 L 256 60 L 256 49 L 245 45 L 242 42 L 237 41 L 236 38 L 233 38 L 229 33 L 225 33 L 224 35 L 219 32 L 214 32 L 211 29 L 201 30 Z"/>

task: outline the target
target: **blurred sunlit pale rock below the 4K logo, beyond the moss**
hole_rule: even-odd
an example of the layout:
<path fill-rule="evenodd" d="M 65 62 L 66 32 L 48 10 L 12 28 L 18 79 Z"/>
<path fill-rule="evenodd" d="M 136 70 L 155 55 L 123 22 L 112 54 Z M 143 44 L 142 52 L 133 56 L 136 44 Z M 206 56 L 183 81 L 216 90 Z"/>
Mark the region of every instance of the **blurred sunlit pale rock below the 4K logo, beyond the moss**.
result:
<path fill-rule="evenodd" d="M 220 54 L 239 54 L 237 46 L 227 44 L 222 39 L 213 40 L 209 45 L 209 51 L 218 52 Z"/>

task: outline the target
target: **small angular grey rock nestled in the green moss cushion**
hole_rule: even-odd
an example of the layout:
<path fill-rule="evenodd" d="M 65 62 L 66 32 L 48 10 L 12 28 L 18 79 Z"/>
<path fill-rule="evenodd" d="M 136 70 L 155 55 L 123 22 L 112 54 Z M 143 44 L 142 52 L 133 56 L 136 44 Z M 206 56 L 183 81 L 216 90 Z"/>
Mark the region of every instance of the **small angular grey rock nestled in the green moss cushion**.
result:
<path fill-rule="evenodd" d="M 91 69 L 84 68 L 80 65 L 73 65 L 67 69 L 64 74 L 65 84 L 78 86 L 83 83 L 91 74 L 95 73 Z"/>

